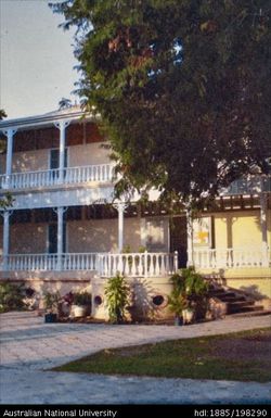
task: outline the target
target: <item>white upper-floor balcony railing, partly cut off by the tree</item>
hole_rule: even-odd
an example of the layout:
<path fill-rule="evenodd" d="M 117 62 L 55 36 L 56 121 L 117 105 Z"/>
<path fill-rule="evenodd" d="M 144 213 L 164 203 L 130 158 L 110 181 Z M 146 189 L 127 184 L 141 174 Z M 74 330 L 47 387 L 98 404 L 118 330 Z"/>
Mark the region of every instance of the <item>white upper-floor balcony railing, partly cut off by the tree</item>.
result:
<path fill-rule="evenodd" d="M 67 167 L 64 170 L 48 169 L 42 172 L 12 173 L 0 176 L 2 189 L 27 189 L 51 187 L 56 185 L 73 185 L 88 181 L 112 181 L 114 177 L 113 164 L 87 165 Z"/>

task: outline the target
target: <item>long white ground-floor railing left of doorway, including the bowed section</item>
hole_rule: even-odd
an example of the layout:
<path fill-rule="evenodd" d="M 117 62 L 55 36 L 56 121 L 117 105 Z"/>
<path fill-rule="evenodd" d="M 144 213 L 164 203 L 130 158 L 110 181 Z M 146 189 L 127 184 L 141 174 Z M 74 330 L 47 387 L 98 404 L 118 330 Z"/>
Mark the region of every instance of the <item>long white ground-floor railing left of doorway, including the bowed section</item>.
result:
<path fill-rule="evenodd" d="M 96 271 L 111 277 L 119 271 L 128 277 L 160 277 L 178 268 L 178 254 L 168 253 L 66 253 L 10 254 L 1 261 L 1 269 L 8 271 Z"/>

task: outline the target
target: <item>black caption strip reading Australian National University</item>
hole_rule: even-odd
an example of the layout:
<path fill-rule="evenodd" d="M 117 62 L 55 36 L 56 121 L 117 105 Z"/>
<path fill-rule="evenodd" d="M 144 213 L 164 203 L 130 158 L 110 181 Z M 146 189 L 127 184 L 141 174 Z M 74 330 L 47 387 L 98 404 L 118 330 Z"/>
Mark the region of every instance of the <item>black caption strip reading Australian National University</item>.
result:
<path fill-rule="evenodd" d="M 271 403 L 271 400 L 270 400 Z M 270 404 L 244 405 L 0 405 L 1 417 L 270 418 Z"/>

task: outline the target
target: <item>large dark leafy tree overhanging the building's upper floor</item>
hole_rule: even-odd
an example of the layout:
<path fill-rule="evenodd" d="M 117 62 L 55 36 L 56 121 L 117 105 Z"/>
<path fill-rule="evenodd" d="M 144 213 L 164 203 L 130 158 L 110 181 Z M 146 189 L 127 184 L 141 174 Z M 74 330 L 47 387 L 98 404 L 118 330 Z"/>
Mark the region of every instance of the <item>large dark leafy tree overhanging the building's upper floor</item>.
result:
<path fill-rule="evenodd" d="M 79 93 L 122 179 L 195 202 L 267 172 L 270 0 L 67 0 Z"/>

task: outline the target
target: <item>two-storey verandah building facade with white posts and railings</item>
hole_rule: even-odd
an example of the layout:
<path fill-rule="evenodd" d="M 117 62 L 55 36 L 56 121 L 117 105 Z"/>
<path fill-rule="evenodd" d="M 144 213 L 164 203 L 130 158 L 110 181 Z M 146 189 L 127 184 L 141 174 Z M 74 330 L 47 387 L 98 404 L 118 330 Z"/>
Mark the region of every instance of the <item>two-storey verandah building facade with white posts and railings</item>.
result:
<path fill-rule="evenodd" d="M 2 121 L 0 130 L 1 197 L 13 197 L 1 211 L 1 279 L 39 292 L 89 287 L 95 297 L 120 271 L 147 281 L 153 297 L 189 264 L 271 296 L 269 177 L 236 181 L 191 221 L 182 208 L 170 215 L 156 192 L 145 205 L 113 200 L 106 141 L 78 107 Z"/>

